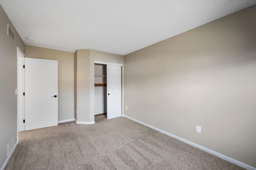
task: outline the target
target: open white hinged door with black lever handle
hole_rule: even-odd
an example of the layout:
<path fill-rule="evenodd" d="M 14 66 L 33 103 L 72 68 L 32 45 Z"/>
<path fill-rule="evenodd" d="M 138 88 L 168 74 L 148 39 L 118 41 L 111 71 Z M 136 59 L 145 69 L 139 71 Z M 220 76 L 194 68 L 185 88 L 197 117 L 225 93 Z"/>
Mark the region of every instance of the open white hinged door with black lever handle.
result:
<path fill-rule="evenodd" d="M 58 125 L 58 61 L 25 58 L 25 130 Z"/>

